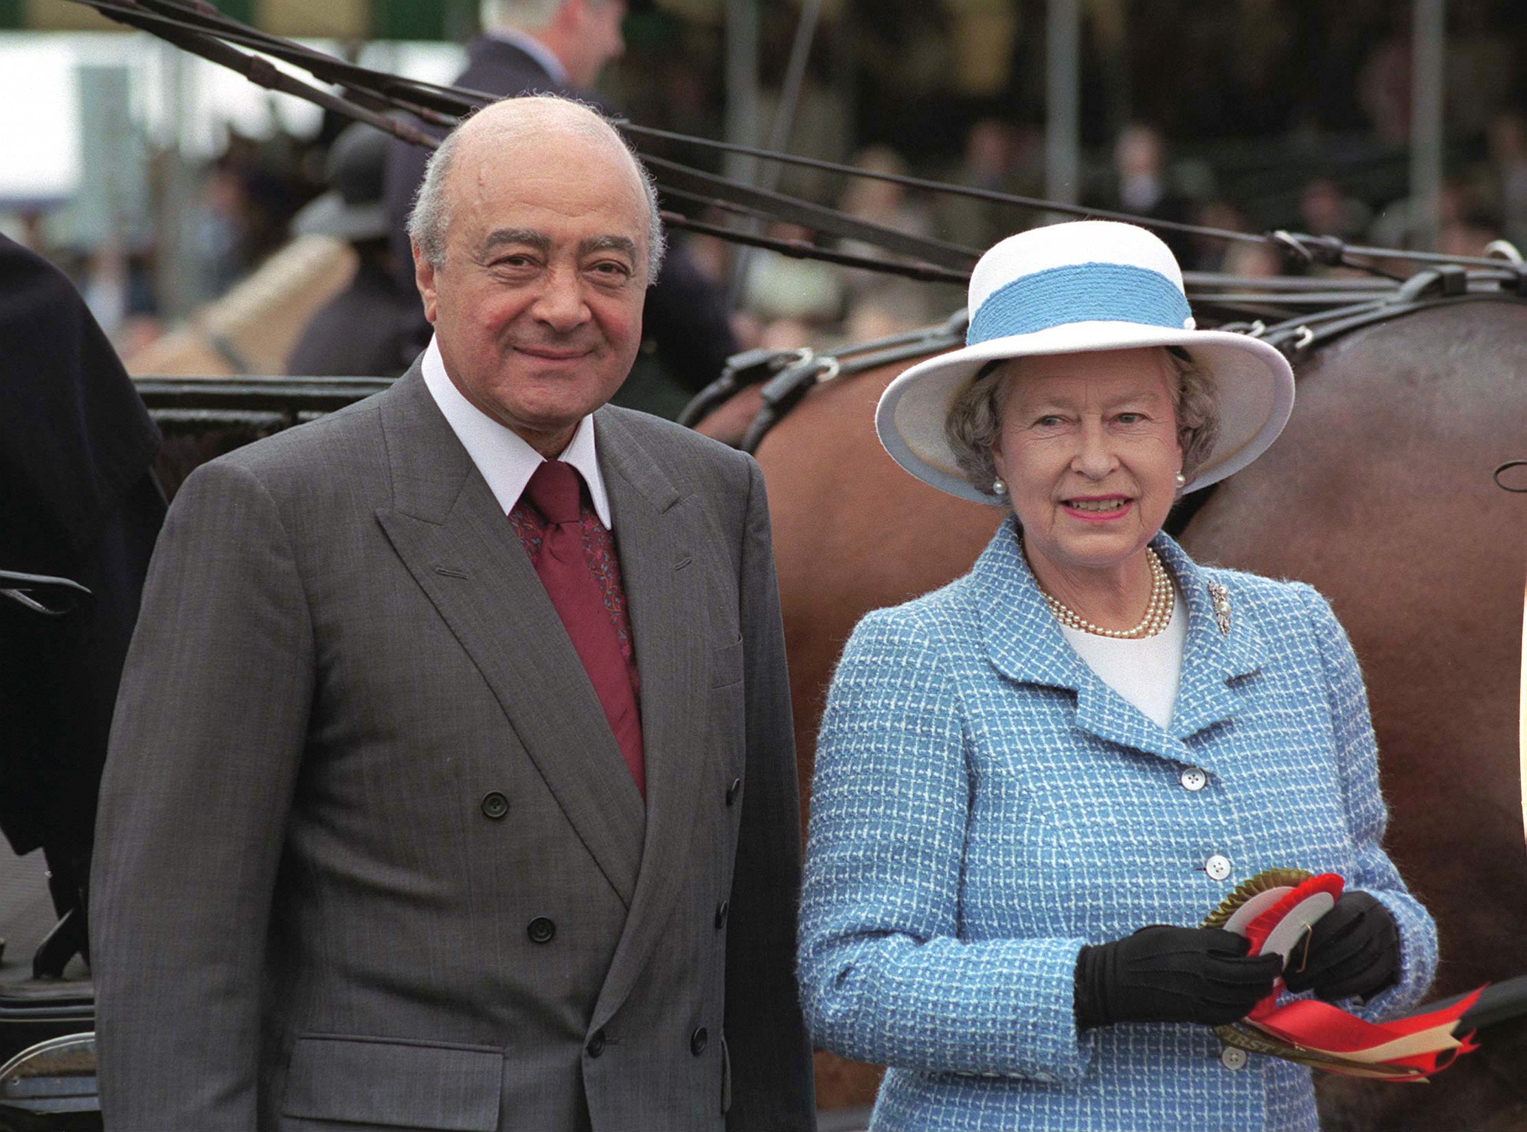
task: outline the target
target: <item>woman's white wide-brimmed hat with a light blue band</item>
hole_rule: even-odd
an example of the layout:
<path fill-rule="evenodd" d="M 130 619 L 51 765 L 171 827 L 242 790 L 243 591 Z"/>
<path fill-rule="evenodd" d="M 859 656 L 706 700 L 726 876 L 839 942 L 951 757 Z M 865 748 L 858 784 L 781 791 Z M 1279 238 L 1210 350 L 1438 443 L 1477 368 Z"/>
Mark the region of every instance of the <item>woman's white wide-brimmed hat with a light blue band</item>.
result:
<path fill-rule="evenodd" d="M 1293 370 L 1267 342 L 1196 330 L 1182 269 L 1159 237 L 1135 225 L 1078 220 L 1009 235 L 970 277 L 965 347 L 913 365 L 875 411 L 890 457 L 939 490 L 977 503 L 944 437 L 950 406 L 986 362 L 1031 354 L 1176 345 L 1219 393 L 1219 438 L 1185 490 L 1238 472 L 1277 440 L 1293 411 Z"/>

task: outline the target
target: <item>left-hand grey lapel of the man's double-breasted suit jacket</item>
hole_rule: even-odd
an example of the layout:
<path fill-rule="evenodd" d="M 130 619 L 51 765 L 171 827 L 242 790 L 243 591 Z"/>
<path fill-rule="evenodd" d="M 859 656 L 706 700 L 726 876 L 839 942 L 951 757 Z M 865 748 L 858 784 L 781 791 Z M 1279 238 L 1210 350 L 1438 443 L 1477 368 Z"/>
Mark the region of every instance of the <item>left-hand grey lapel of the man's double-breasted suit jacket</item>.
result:
<path fill-rule="evenodd" d="M 392 507 L 377 521 L 629 907 L 646 816 L 573 642 L 418 365 L 382 396 Z"/>

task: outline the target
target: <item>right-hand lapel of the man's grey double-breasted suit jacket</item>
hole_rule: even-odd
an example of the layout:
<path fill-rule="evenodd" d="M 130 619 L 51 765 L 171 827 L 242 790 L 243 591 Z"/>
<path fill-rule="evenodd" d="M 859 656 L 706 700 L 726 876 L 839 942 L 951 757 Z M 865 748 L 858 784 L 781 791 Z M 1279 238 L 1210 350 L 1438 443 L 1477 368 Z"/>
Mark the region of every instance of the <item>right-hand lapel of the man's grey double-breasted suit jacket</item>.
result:
<path fill-rule="evenodd" d="M 680 498 L 637 434 L 618 416 L 594 417 L 596 443 L 615 524 L 620 573 L 641 674 L 641 742 L 647 826 L 631 914 L 605 978 L 594 1024 L 631 993 L 669 921 L 699 819 L 695 761 L 702 756 L 707 610 L 686 587 L 696 501 Z"/>

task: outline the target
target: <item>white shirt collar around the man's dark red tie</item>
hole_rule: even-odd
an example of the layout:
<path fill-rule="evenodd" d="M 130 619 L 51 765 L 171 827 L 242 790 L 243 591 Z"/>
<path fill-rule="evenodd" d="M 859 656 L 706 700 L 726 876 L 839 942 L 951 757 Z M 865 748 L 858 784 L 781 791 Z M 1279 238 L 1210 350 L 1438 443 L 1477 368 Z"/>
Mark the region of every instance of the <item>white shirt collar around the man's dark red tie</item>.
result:
<path fill-rule="evenodd" d="M 524 495 L 530 477 L 541 466 L 542 455 L 513 429 L 493 420 L 461 396 L 461 390 L 446 374 L 446 362 L 440 356 L 440 344 L 434 338 L 429 339 L 429 348 L 425 350 L 423 370 L 429 396 L 435 399 L 446 423 L 450 425 L 452 432 L 472 457 L 472 463 L 487 480 L 499 509 L 508 515 L 519 503 L 519 496 Z M 579 422 L 573 440 L 568 441 L 559 458 L 573 464 L 583 477 L 599 521 L 605 524 L 605 530 L 612 530 L 609 493 L 605 490 L 605 477 L 600 475 L 599 454 L 594 449 L 592 416 Z"/>

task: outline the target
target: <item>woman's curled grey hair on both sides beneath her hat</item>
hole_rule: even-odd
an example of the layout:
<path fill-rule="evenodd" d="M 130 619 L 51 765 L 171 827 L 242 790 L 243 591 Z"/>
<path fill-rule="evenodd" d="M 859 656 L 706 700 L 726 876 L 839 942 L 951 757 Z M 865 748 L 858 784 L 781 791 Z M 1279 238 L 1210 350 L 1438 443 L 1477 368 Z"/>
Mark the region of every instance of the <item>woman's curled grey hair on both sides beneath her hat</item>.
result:
<path fill-rule="evenodd" d="M 1214 379 L 1182 350 L 1164 348 L 1162 356 L 1171 370 L 1171 405 L 1177 414 L 1177 443 L 1182 446 L 1182 474 L 1193 480 L 1194 469 L 1214 451 L 1220 434 L 1219 393 Z M 1012 382 L 1006 362 L 999 357 L 988 362 L 950 405 L 944 419 L 944 437 L 960 472 L 976 490 L 999 496 L 991 490 L 997 480 L 997 461 L 993 448 L 1002 431 L 1002 409 L 1008 402 Z M 1011 498 L 1011 496 L 1009 496 Z"/>

